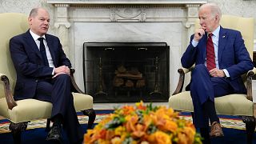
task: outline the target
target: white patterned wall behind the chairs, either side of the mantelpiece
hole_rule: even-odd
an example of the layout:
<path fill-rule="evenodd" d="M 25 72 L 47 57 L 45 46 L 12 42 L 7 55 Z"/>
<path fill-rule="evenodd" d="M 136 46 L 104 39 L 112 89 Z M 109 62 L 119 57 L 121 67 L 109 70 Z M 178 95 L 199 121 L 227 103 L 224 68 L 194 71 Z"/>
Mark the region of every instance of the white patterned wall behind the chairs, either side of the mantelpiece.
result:
<path fill-rule="evenodd" d="M 208 2 L 217 3 L 222 9 L 222 14 L 256 18 L 256 0 L 208 0 Z M 48 4 L 47 0 L 0 0 L 0 13 L 17 12 L 29 14 L 31 8 L 36 6 L 45 7 L 49 10 L 50 15 L 53 16 L 54 6 Z M 51 24 L 50 33 L 55 34 L 54 22 L 51 22 Z M 256 29 L 254 38 L 256 39 Z"/>

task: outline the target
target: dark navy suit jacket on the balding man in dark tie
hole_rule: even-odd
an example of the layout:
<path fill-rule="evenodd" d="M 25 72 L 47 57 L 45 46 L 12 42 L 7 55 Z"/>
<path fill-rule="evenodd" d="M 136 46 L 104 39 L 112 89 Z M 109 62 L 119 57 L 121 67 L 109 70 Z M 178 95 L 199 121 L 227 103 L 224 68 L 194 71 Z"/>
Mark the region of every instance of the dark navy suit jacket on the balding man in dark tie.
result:
<path fill-rule="evenodd" d="M 54 66 L 69 66 L 70 60 L 62 50 L 59 39 L 53 35 L 46 34 L 46 42 L 49 46 Z M 14 99 L 33 98 L 38 80 L 51 78 L 53 68 L 43 66 L 43 60 L 38 46 L 27 30 L 10 39 L 10 55 L 17 72 L 17 81 L 14 90 Z"/>

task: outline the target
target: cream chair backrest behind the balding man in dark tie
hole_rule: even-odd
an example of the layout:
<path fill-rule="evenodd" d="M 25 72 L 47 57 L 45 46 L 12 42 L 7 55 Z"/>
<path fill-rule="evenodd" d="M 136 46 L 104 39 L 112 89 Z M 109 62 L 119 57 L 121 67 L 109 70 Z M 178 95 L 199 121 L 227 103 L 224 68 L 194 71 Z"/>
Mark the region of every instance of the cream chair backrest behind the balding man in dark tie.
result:
<path fill-rule="evenodd" d="M 18 13 L 0 14 L 0 74 L 6 74 L 14 91 L 16 71 L 10 58 L 9 41 L 14 35 L 22 34 L 29 29 L 28 16 Z M 5 97 L 3 83 L 0 82 L 0 98 Z"/>

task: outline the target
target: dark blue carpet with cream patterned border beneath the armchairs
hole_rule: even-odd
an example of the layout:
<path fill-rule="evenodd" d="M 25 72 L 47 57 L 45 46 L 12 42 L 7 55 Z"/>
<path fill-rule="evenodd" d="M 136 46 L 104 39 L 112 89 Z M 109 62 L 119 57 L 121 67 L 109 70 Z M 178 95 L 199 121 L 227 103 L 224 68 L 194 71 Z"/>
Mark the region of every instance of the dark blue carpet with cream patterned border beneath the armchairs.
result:
<path fill-rule="evenodd" d="M 100 122 L 103 118 L 114 110 L 95 110 L 96 119 L 95 125 Z M 179 114 L 181 118 L 185 118 L 186 120 L 192 121 L 190 113 L 182 112 Z M 223 128 L 223 132 L 225 137 L 222 138 L 213 138 L 211 142 L 213 144 L 244 144 L 246 143 L 246 130 L 245 124 L 239 117 L 235 116 L 226 116 L 226 115 L 219 115 L 220 121 Z M 82 128 L 86 133 L 86 123 L 88 122 L 88 117 L 82 115 L 82 113 L 78 113 L 78 120 L 82 124 Z M 1 120 L 0 121 L 0 143 L 13 143 L 12 136 L 9 130 L 10 122 L 8 120 Z M 30 122 L 28 125 L 28 130 L 22 133 L 22 143 L 26 144 L 43 144 L 47 143 L 45 138 L 47 132 L 45 131 L 46 127 L 46 119 L 36 120 Z M 64 143 L 68 144 L 68 139 L 66 138 L 65 133 L 63 133 L 63 141 Z M 256 143 L 256 134 L 254 134 L 254 143 Z"/>

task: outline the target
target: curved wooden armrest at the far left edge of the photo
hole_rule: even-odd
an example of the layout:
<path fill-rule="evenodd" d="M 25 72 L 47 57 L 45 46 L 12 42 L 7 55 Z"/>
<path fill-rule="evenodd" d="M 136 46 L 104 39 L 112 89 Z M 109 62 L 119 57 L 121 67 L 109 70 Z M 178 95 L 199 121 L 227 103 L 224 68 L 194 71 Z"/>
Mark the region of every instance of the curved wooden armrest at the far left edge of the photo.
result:
<path fill-rule="evenodd" d="M 14 101 L 14 96 L 10 90 L 9 78 L 6 76 L 6 74 L 0 74 L 0 78 L 1 78 L 1 81 L 3 82 L 3 86 L 6 94 L 7 106 L 10 110 L 12 110 L 14 106 L 17 106 L 17 103 Z"/>

